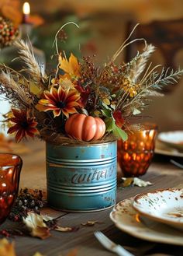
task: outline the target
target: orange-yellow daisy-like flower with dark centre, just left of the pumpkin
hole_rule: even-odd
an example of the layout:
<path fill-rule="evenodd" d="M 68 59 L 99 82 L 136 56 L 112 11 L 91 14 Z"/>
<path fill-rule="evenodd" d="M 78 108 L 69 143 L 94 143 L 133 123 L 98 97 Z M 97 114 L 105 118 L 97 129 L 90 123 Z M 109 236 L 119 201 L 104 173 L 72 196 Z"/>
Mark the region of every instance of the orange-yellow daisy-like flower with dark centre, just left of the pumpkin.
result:
<path fill-rule="evenodd" d="M 51 87 L 50 92 L 44 91 L 44 99 L 39 100 L 36 105 L 36 109 L 40 111 L 53 110 L 54 117 L 58 117 L 63 113 L 67 118 L 69 114 L 77 113 L 75 107 L 80 104 L 80 94 L 76 89 L 64 89 L 62 86 L 58 86 L 58 89 L 54 86 Z"/>

